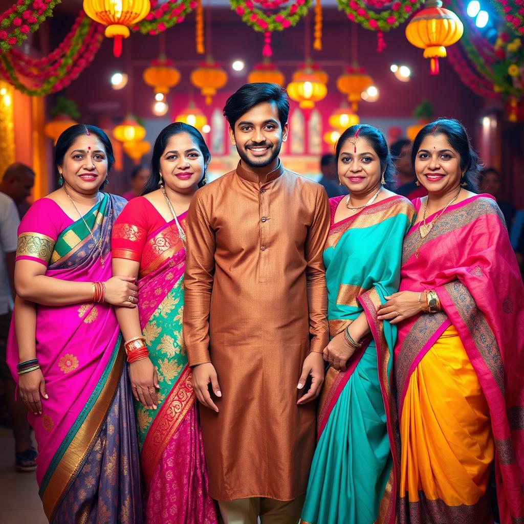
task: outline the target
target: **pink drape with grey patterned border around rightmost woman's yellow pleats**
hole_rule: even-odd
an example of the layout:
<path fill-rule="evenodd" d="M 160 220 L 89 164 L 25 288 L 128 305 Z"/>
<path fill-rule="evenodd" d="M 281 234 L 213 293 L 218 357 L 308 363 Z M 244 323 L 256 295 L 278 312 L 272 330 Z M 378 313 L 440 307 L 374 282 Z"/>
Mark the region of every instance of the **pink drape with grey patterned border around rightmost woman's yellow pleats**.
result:
<path fill-rule="evenodd" d="M 420 207 L 420 201 L 415 203 Z M 422 313 L 399 324 L 395 346 L 399 420 L 411 374 L 453 324 L 489 407 L 501 524 L 522 524 L 524 290 L 503 216 L 489 195 L 476 195 L 446 210 L 417 257 L 419 244 L 417 224 L 405 239 L 400 291 L 434 289 L 442 312 Z M 472 506 L 446 506 L 442 500 L 428 500 L 423 491 L 419 498 L 409 502 L 400 493 L 400 523 L 490 521 L 487 497 Z"/>

